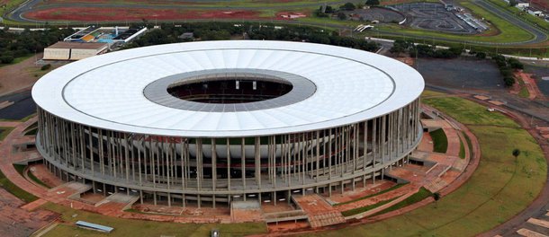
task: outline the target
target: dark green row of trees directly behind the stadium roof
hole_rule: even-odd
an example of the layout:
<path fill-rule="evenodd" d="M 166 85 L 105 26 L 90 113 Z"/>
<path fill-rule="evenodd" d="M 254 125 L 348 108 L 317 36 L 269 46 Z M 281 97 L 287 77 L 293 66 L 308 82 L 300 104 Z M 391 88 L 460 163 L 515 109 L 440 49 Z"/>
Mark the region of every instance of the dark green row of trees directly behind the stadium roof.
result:
<path fill-rule="evenodd" d="M 178 36 L 184 32 L 193 32 L 199 40 L 287 40 L 311 43 L 329 44 L 347 48 L 357 48 L 366 51 L 375 51 L 379 45 L 374 41 L 366 41 L 351 37 L 339 36 L 337 31 L 325 31 L 308 26 L 284 25 L 275 26 L 271 23 L 229 23 L 229 22 L 191 22 L 177 25 L 163 23 L 159 29 L 134 40 L 125 48 L 136 48 L 157 44 L 167 44 L 184 41 Z"/>

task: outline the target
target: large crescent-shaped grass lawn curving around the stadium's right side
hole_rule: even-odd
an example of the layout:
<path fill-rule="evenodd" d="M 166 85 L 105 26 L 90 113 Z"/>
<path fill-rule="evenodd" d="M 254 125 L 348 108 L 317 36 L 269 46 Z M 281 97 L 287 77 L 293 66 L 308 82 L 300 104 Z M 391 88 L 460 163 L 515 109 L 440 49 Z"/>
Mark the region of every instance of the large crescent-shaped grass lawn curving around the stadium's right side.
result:
<path fill-rule="evenodd" d="M 320 236 L 473 236 L 517 215 L 545 184 L 546 162 L 527 131 L 499 112 L 462 98 L 423 99 L 469 128 L 481 143 L 482 158 L 473 176 L 437 204 L 374 224 L 364 224 Z M 501 125 L 506 127 L 495 127 Z M 518 159 L 513 149 L 524 151 Z"/>

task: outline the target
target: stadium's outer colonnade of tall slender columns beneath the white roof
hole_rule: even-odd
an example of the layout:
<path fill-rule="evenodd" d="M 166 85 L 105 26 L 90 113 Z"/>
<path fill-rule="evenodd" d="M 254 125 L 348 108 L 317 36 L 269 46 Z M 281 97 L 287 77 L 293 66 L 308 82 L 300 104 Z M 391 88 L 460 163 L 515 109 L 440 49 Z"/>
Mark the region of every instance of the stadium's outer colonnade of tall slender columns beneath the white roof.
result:
<path fill-rule="evenodd" d="M 419 144 L 419 100 L 378 118 L 294 134 L 175 137 L 112 131 L 38 110 L 37 147 L 51 171 L 94 192 L 139 195 L 168 205 L 276 202 L 355 188 L 401 162 Z M 334 188 L 336 187 L 336 188 Z"/>

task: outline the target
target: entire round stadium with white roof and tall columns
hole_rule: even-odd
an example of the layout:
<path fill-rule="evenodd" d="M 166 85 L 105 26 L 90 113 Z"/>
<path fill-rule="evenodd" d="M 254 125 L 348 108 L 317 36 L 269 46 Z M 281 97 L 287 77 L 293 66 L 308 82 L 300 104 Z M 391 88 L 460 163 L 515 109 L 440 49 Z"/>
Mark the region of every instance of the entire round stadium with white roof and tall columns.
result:
<path fill-rule="evenodd" d="M 352 48 L 203 41 L 91 57 L 32 88 L 50 171 L 155 205 L 290 201 L 382 179 L 419 145 L 421 75 Z"/>

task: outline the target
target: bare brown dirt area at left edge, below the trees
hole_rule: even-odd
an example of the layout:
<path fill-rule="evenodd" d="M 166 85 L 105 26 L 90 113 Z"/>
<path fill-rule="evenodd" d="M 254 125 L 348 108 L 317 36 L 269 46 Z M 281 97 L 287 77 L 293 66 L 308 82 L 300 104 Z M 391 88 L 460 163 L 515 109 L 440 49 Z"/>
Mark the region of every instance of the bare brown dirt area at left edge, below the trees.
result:
<path fill-rule="evenodd" d="M 42 53 L 37 54 L 36 58 L 42 58 Z M 34 76 L 35 70 L 40 70 L 40 66 L 34 65 L 34 57 L 18 64 L 0 67 L 0 96 L 30 88 L 40 78 Z"/>

